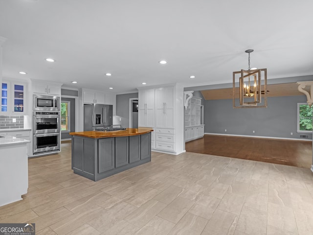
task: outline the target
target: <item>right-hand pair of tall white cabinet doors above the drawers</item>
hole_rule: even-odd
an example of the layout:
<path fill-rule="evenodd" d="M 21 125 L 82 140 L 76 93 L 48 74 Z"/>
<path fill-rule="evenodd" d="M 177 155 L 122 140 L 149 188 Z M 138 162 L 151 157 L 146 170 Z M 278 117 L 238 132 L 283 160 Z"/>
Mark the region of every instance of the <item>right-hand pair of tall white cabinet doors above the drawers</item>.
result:
<path fill-rule="evenodd" d="M 156 127 L 174 128 L 175 87 L 156 89 Z"/>

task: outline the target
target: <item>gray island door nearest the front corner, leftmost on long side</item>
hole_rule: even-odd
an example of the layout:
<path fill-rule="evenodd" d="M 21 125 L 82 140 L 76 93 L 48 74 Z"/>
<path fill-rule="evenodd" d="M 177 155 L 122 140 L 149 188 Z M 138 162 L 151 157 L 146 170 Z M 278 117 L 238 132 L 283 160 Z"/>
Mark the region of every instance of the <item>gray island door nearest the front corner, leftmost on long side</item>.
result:
<path fill-rule="evenodd" d="M 115 168 L 115 138 L 98 140 L 98 172 Z"/>

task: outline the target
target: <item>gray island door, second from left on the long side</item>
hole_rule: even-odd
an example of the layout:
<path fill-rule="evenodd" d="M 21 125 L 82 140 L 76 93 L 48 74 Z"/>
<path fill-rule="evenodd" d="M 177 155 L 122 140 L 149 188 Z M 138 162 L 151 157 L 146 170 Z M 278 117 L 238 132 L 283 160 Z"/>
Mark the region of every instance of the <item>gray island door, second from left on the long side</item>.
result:
<path fill-rule="evenodd" d="M 129 137 L 115 137 L 115 167 L 129 162 Z"/>

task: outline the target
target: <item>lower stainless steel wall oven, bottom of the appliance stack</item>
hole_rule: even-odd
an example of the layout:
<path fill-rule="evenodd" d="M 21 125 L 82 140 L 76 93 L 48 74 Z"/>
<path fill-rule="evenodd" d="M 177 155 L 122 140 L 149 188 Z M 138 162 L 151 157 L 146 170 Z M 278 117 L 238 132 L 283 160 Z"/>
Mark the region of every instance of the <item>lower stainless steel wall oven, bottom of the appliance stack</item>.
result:
<path fill-rule="evenodd" d="M 60 150 L 60 133 L 33 135 L 34 154 Z"/>

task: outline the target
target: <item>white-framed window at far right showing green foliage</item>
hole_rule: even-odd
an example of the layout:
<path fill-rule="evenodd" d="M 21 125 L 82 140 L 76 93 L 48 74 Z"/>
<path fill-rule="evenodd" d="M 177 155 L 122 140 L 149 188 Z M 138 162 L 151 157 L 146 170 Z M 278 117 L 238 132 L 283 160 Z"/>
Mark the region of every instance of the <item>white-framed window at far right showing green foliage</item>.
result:
<path fill-rule="evenodd" d="M 298 103 L 297 132 L 312 132 L 312 107 L 307 103 Z"/>

